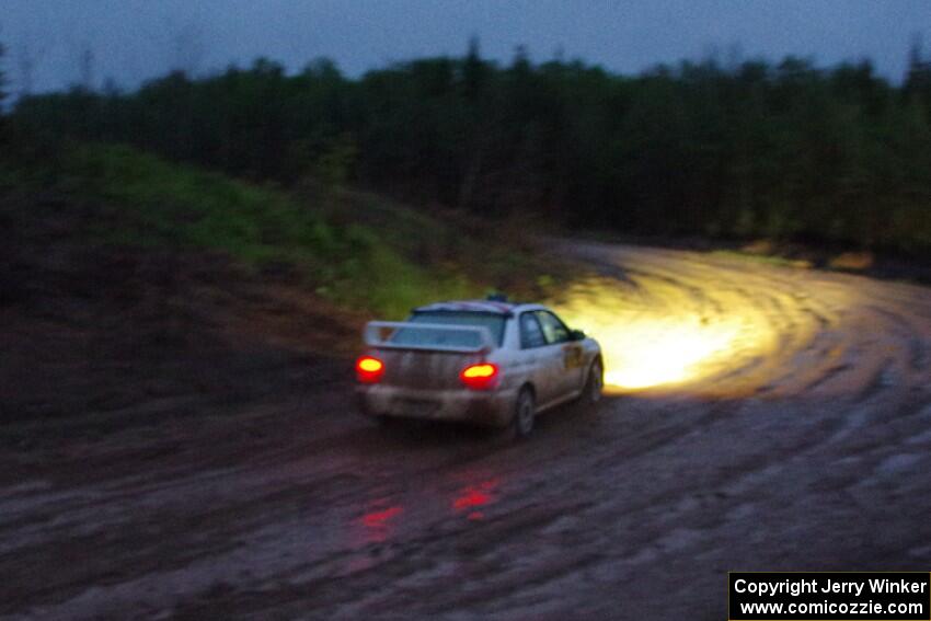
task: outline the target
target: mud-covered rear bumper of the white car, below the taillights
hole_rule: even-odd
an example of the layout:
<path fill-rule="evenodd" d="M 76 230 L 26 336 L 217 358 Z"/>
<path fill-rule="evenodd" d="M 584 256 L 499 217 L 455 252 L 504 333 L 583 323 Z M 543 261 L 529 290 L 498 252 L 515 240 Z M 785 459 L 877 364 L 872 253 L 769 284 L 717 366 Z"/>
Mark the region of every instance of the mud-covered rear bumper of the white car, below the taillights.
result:
<path fill-rule="evenodd" d="M 504 427 L 514 415 L 516 390 L 415 390 L 391 386 L 356 388 L 359 410 L 368 416 L 465 421 Z"/>

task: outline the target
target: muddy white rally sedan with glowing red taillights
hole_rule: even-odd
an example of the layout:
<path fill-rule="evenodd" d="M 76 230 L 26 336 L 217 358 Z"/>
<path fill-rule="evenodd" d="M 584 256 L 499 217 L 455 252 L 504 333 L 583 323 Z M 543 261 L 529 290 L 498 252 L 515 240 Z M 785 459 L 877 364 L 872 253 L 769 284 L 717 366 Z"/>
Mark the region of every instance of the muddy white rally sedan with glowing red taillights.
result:
<path fill-rule="evenodd" d="M 380 419 L 467 421 L 524 437 L 538 412 L 601 398 L 598 343 L 541 304 L 439 302 L 404 322 L 369 322 L 365 342 L 359 407 Z"/>

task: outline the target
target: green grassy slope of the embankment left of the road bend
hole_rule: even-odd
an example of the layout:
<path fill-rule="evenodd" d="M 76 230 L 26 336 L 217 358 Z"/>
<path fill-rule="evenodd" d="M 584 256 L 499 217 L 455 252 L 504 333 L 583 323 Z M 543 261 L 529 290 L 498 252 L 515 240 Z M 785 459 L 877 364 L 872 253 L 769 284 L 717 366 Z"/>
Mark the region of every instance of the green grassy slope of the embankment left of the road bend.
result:
<path fill-rule="evenodd" d="M 219 252 L 253 274 L 291 274 L 364 314 L 399 319 L 419 303 L 495 287 L 544 295 L 553 280 L 501 223 L 432 217 L 343 188 L 285 192 L 128 147 L 79 146 L 38 164 L 8 164 L 3 186 L 91 205 L 80 233 L 88 243 Z"/>

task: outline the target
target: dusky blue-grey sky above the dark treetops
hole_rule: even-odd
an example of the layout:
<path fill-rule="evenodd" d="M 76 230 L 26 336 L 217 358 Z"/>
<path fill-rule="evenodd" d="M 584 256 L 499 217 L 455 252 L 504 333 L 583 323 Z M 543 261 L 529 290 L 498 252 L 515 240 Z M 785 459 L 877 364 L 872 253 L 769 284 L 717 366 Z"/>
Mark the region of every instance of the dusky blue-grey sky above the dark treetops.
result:
<path fill-rule="evenodd" d="M 289 70 L 326 56 L 357 76 L 461 55 L 471 35 L 503 62 L 525 45 L 533 60 L 561 50 L 635 73 L 739 49 L 743 58 L 794 54 L 820 66 L 870 58 L 898 81 L 916 34 L 931 56 L 929 0 L 0 0 L 14 92 L 30 62 L 33 91 L 78 82 L 84 50 L 95 84 L 134 87 L 172 66 L 203 73 L 257 56 Z"/>

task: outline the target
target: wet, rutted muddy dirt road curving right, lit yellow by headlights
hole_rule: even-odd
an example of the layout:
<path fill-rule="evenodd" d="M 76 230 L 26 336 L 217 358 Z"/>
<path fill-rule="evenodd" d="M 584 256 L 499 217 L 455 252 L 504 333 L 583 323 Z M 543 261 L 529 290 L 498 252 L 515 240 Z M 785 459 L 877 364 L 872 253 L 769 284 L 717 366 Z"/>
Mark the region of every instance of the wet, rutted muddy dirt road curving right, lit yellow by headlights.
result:
<path fill-rule="evenodd" d="M 636 326 L 597 412 L 510 446 L 337 382 L 4 450 L 0 614 L 711 620 L 729 570 L 931 568 L 931 290 L 572 250 L 565 311 Z"/>

